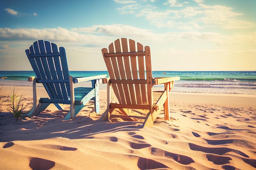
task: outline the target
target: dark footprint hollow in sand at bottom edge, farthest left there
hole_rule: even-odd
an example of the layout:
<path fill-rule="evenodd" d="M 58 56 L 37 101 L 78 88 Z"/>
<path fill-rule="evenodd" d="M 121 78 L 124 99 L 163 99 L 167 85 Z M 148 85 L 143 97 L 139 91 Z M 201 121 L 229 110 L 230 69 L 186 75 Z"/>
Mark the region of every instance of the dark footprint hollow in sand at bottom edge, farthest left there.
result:
<path fill-rule="evenodd" d="M 47 159 L 32 157 L 29 162 L 29 167 L 32 170 L 49 170 L 55 166 L 54 161 Z"/>

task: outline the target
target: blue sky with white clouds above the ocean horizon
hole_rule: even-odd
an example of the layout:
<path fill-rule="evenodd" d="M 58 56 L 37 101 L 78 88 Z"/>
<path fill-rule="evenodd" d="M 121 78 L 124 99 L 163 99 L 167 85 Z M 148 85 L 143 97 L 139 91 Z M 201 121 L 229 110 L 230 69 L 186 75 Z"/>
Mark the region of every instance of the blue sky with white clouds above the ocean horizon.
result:
<path fill-rule="evenodd" d="M 36 40 L 70 71 L 106 71 L 118 38 L 150 46 L 153 71 L 256 71 L 256 0 L 0 0 L 0 71 L 31 71 Z"/>

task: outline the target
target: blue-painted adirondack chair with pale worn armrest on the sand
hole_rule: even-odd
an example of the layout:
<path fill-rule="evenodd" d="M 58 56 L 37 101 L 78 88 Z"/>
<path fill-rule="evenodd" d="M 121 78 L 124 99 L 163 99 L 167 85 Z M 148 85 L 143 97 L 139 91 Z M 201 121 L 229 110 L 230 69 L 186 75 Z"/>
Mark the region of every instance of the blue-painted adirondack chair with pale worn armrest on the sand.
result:
<path fill-rule="evenodd" d="M 36 74 L 33 80 L 33 107 L 26 116 L 38 115 L 49 104 L 63 110 L 59 104 L 70 104 L 70 111 L 64 119 L 73 119 L 90 100 L 94 100 L 99 113 L 99 81 L 107 75 L 72 77 L 69 75 L 65 49 L 44 40 L 38 40 L 26 50 L 29 62 Z M 74 83 L 92 82 L 92 87 L 76 87 Z M 45 87 L 49 98 L 40 98 L 37 105 L 36 83 Z"/>

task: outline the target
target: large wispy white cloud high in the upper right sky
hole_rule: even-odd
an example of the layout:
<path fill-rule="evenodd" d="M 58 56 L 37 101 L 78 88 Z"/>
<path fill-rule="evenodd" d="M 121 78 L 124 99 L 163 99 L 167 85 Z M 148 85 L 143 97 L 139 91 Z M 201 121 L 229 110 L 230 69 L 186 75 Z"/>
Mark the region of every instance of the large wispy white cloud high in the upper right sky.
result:
<path fill-rule="evenodd" d="M 118 8 L 119 13 L 135 13 L 135 16 L 144 16 L 152 25 L 157 27 L 175 28 L 195 31 L 202 28 L 247 29 L 256 26 L 255 22 L 240 20 L 244 15 L 234 11 L 233 8 L 223 5 L 202 4 L 203 0 L 194 0 L 199 3 L 195 6 L 183 7 L 188 2 L 178 3 L 177 0 L 168 0 L 164 5 L 181 7 L 179 10 L 153 7 L 141 4 L 126 5 Z"/>

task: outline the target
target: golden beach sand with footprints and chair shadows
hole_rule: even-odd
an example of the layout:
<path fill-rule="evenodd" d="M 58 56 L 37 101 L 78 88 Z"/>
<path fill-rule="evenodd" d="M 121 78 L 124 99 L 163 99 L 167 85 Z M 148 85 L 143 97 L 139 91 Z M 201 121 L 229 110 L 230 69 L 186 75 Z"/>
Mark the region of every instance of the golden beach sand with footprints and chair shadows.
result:
<path fill-rule="evenodd" d="M 65 121 L 69 106 L 50 105 L 16 122 L 7 110 L 12 88 L 1 91 L 1 170 L 256 169 L 255 95 L 170 93 L 171 121 L 160 114 L 153 126 L 141 128 L 141 121 L 97 121 L 106 110 L 106 90 L 99 114 L 90 102 Z M 32 87 L 15 89 L 31 109 Z M 46 95 L 37 90 L 38 97 Z"/>

